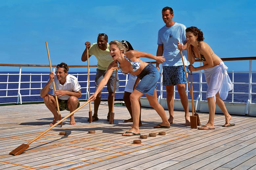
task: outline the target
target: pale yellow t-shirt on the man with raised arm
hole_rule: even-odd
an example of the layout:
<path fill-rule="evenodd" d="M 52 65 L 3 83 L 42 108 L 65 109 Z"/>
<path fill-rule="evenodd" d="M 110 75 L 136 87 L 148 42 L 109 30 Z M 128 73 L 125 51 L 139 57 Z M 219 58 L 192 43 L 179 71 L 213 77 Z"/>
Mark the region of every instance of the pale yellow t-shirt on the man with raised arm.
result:
<path fill-rule="evenodd" d="M 105 51 L 99 49 L 97 43 L 93 43 L 89 49 L 89 55 L 92 56 L 94 55 L 96 59 L 98 60 L 97 66 L 98 69 L 100 70 L 107 70 L 109 64 L 113 61 L 112 56 L 110 55 L 109 52 L 109 43 L 108 47 Z"/>

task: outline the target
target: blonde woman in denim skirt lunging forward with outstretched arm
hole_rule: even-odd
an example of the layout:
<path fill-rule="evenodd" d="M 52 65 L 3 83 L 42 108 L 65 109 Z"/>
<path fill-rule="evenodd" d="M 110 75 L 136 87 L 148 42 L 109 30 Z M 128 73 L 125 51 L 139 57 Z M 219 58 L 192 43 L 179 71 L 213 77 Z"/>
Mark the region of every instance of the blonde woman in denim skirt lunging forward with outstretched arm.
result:
<path fill-rule="evenodd" d="M 165 61 L 163 56 L 154 56 L 149 53 L 143 53 L 136 50 L 126 52 L 120 41 L 114 40 L 109 43 L 110 55 L 113 58 L 113 62 L 108 66 L 106 75 L 100 81 L 95 93 L 91 95 L 89 99 L 94 101 L 96 99 L 98 89 L 102 89 L 107 84 L 108 79 L 114 70 L 118 69 L 124 75 L 131 74 L 139 77 L 140 82 L 130 95 L 133 115 L 133 126 L 131 129 L 123 133 L 123 136 L 140 135 L 139 133 L 139 98 L 145 94 L 149 104 L 153 107 L 162 119 L 162 123 L 154 126 L 154 128 L 170 128 L 170 123 L 166 117 L 163 107 L 158 103 L 156 84 L 160 78 L 158 69 L 152 65 L 152 63 L 146 63 L 140 59 L 140 57 L 146 57 L 149 59 L 155 59 L 157 62 L 162 63 Z M 88 100 L 89 100 L 88 99 Z"/>

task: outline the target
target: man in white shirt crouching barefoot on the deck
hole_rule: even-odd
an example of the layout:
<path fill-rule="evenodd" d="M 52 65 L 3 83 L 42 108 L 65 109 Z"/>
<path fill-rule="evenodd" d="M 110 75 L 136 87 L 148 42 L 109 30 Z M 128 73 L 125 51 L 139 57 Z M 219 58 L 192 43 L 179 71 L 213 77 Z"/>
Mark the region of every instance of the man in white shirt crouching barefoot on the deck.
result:
<path fill-rule="evenodd" d="M 74 111 L 80 106 L 78 98 L 81 97 L 81 86 L 79 85 L 75 76 L 69 75 L 69 67 L 66 63 L 62 62 L 56 67 L 56 77 L 54 73 L 50 73 L 47 84 L 42 88 L 40 96 L 44 98 L 46 107 L 53 113 L 53 122 L 50 126 L 53 126 L 58 120 L 58 112 L 56 106 L 55 96 L 58 97 L 59 110 Z M 53 88 L 53 78 L 56 91 L 54 95 L 48 94 Z M 70 125 L 75 125 L 74 114 L 70 116 Z"/>

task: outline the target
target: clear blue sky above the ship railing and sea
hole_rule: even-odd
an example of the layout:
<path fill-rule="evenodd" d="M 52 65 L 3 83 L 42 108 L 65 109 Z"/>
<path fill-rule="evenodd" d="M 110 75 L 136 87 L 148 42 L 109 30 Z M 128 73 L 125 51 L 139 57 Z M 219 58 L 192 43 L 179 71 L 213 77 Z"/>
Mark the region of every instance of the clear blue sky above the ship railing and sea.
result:
<path fill-rule="evenodd" d="M 98 33 L 106 33 L 109 41 L 127 40 L 134 49 L 156 55 L 165 6 L 173 8 L 174 22 L 201 28 L 204 41 L 219 57 L 256 56 L 255 0 L 0 0 L 0 63 L 49 64 L 48 42 L 52 64 L 87 65 L 81 61 L 84 43 L 96 42 Z M 248 61 L 225 63 L 228 71 L 248 70 Z M 89 64 L 96 65 L 95 57 Z M 1 71 L 18 68 L 1 67 Z"/>

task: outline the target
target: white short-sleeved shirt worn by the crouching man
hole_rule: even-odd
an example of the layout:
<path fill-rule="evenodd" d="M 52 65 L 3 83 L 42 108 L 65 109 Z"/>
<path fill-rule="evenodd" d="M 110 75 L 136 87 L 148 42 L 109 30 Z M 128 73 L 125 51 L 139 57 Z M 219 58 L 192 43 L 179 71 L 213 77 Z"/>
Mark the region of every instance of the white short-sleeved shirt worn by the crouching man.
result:
<path fill-rule="evenodd" d="M 67 75 L 66 82 L 63 85 L 60 84 L 56 76 L 54 77 L 54 83 L 55 83 L 56 90 L 67 90 L 70 92 L 78 92 L 81 89 L 81 86 L 79 85 L 77 78 L 70 74 Z M 49 88 L 50 89 L 53 88 L 53 82 L 51 83 Z M 53 95 L 54 95 L 54 92 L 53 92 Z M 70 97 L 69 95 L 64 95 L 58 98 L 61 100 L 68 100 L 69 97 Z"/>

